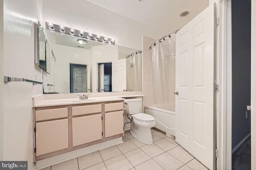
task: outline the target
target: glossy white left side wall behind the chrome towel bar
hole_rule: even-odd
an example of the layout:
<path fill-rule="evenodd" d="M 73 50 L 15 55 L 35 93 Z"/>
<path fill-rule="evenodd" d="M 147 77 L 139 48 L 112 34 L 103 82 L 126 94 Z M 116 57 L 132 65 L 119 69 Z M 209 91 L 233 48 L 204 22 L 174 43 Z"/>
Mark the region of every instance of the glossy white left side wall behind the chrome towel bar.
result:
<path fill-rule="evenodd" d="M 42 71 L 34 64 L 34 23 L 42 20 L 42 0 L 4 0 L 3 10 L 4 62 L 0 62 L 0 68 L 4 69 L 4 75 L 35 80 L 37 74 L 38 81 L 42 81 Z M 0 86 L 0 91 L 4 98 L 2 160 L 27 160 L 31 170 L 34 166 L 32 97 L 42 94 L 42 85 L 10 82 L 3 88 Z"/>

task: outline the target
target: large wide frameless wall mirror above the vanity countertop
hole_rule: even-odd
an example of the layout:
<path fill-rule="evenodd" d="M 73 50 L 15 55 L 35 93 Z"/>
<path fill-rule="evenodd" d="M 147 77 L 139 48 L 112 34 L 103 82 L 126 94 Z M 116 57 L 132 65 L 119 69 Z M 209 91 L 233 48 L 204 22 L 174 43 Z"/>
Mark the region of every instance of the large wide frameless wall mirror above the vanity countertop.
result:
<path fill-rule="evenodd" d="M 44 93 L 142 91 L 142 53 L 44 29 Z M 48 61 L 48 62 L 47 62 Z"/>

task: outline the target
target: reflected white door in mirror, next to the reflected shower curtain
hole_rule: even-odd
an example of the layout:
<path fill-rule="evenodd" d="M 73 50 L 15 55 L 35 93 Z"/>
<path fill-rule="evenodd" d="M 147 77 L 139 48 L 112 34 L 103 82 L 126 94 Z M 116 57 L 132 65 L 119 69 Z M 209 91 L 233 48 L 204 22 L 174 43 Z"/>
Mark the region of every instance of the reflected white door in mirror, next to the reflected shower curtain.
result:
<path fill-rule="evenodd" d="M 126 59 L 112 63 L 112 92 L 126 91 Z"/>

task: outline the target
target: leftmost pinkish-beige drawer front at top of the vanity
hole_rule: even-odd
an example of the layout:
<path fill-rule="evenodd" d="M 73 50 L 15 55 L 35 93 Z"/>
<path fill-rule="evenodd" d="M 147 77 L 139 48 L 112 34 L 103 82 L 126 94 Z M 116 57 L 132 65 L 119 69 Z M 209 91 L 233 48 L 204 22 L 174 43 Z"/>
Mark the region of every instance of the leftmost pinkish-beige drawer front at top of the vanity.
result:
<path fill-rule="evenodd" d="M 57 109 L 36 110 L 36 121 L 68 117 L 68 107 Z"/>

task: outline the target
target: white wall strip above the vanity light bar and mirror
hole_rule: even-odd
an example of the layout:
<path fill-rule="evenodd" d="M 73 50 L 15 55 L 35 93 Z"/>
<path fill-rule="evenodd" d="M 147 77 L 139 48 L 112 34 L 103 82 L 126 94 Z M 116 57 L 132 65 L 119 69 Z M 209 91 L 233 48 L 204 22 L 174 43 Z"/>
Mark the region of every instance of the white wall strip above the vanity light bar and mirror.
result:
<path fill-rule="evenodd" d="M 163 36 L 147 25 L 86 0 L 43 0 L 43 18 L 44 21 L 114 38 L 116 45 L 138 50 L 142 49 L 142 35 L 156 39 Z"/>

